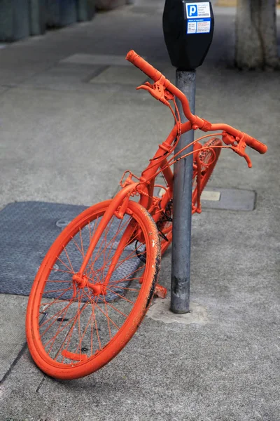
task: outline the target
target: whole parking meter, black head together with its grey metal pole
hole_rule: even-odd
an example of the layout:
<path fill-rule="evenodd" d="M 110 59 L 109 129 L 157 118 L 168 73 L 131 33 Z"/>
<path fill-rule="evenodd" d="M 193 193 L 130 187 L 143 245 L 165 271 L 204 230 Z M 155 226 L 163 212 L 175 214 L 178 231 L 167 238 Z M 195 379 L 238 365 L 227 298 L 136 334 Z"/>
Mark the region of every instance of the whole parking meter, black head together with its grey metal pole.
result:
<path fill-rule="evenodd" d="M 165 44 L 172 65 L 176 67 L 176 86 L 190 102 L 195 114 L 195 69 L 202 65 L 214 34 L 211 1 L 165 0 L 162 15 Z M 180 69 L 180 70 L 178 70 Z M 181 121 L 181 103 L 177 102 Z M 193 131 L 181 135 L 175 152 L 193 142 Z M 186 152 L 191 152 L 191 148 Z M 193 155 L 174 164 L 172 222 L 172 290 L 171 310 L 190 311 L 190 229 L 192 220 Z"/>

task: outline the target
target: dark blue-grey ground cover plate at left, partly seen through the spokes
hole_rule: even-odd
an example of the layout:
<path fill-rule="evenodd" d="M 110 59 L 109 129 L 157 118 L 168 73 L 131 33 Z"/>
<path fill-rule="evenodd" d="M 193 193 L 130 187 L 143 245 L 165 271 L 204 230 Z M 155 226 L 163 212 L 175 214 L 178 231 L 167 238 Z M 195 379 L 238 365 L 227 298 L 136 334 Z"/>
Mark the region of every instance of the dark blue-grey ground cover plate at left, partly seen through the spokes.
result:
<path fill-rule="evenodd" d="M 0 212 L 0 293 L 29 295 L 38 267 L 41 265 L 48 248 L 62 232 L 62 229 L 85 209 L 85 206 L 45 202 L 16 202 L 3 208 Z M 68 261 L 68 258 L 71 260 L 73 272 L 78 272 L 83 260 L 81 248 L 85 253 L 90 244 L 90 235 L 92 235 L 90 234 L 90 229 L 92 229 L 90 225 L 88 225 L 88 232 L 82 234 L 83 239 L 79 239 L 79 234 L 77 234 L 75 244 L 79 244 L 78 241 L 80 241 L 80 243 L 83 243 L 82 247 L 75 246 L 71 242 L 66 246 L 66 251 L 62 252 L 65 253 L 65 262 Z M 120 220 L 113 220 L 110 228 L 112 239 L 110 234 L 106 236 L 105 242 L 111 241 L 109 252 L 111 255 L 118 247 L 118 241 L 120 240 L 118 236 L 114 236 L 119 225 Z M 96 228 L 96 225 L 94 227 Z M 118 235 L 120 236 L 120 234 Z M 99 240 L 99 243 L 102 244 L 102 241 L 104 243 L 103 238 Z M 97 243 L 97 250 L 100 250 L 99 243 Z M 127 246 L 123 255 L 120 256 L 119 261 L 124 261 L 124 263 L 116 267 L 111 281 L 119 279 L 124 279 L 124 281 L 118 281 L 118 288 L 112 288 L 112 292 L 106 295 L 106 301 L 116 299 L 116 294 L 123 294 L 124 287 L 130 282 L 130 274 L 139 267 L 140 260 L 137 257 L 125 261 L 126 255 L 131 255 L 133 251 L 133 245 Z M 94 271 L 98 272 L 104 265 L 104 256 L 99 251 L 96 253 L 99 253 L 99 255 L 93 255 L 92 259 L 95 260 Z M 106 256 L 106 258 L 111 259 L 111 255 Z M 57 292 L 54 292 L 57 290 L 57 284 L 55 284 L 57 282 L 57 271 L 59 271 L 57 272 L 59 273 L 59 281 L 69 282 L 69 292 L 64 293 L 63 299 L 69 300 L 71 298 L 71 276 L 69 276 L 69 272 L 65 271 L 64 266 L 63 258 L 62 261 L 56 260 L 55 271 L 51 272 L 48 277 L 50 283 L 48 284 L 49 292 L 45 295 L 47 298 L 57 297 Z M 106 272 L 108 268 L 102 270 Z M 65 274 L 63 275 L 62 272 L 65 272 Z M 63 276 L 65 276 L 65 280 L 62 279 Z"/>

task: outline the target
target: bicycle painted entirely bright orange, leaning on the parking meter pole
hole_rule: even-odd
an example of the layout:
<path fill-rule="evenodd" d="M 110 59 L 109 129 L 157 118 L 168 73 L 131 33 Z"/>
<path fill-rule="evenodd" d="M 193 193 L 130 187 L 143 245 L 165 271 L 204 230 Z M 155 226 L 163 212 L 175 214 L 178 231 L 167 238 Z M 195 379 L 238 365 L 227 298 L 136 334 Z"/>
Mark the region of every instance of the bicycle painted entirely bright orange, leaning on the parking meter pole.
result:
<path fill-rule="evenodd" d="M 201 212 L 200 196 L 222 147 L 244 156 L 249 167 L 246 145 L 267 151 L 246 133 L 191 114 L 186 96 L 134 51 L 127 60 L 153 79 L 139 88 L 169 107 L 175 124 L 141 176 L 126 171 L 113 199 L 69 223 L 38 270 L 27 307 L 27 342 L 37 366 L 59 379 L 83 377 L 111 361 L 134 335 L 153 295 L 167 293 L 158 276 L 161 255 L 172 241 L 170 166 L 182 159 L 172 155 L 181 133 L 220 131 L 204 145 L 200 140 L 207 135 L 195 140 L 193 152 L 183 155 L 193 154 L 193 213 Z M 186 123 L 180 121 L 175 97 Z"/>

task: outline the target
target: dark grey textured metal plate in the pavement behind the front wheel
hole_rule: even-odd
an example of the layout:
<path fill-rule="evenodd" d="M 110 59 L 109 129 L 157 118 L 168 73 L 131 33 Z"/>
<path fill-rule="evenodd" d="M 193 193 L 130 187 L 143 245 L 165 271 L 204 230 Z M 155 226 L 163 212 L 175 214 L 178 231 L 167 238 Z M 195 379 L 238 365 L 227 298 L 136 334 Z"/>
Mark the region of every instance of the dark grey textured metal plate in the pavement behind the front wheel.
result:
<path fill-rule="evenodd" d="M 85 209 L 85 206 L 33 201 L 10 203 L 3 208 L 0 212 L 0 293 L 29 295 L 45 253 L 62 229 Z M 113 221 L 114 223 L 118 224 L 118 221 Z M 118 243 L 113 244 L 112 253 L 117 246 Z M 129 247 L 124 253 L 131 253 Z M 80 262 L 80 255 L 76 255 L 75 248 L 71 250 L 70 246 L 68 253 L 73 262 L 78 257 L 77 261 Z M 98 260 L 96 265 L 98 267 Z M 116 269 L 116 274 L 114 272 L 112 276 L 125 279 L 126 285 L 129 283 L 129 276 L 126 274 L 134 272 L 139 265 L 139 258 L 130 259 Z M 125 285 L 118 283 L 118 286 Z M 48 298 L 54 297 L 54 295 L 48 296 Z M 106 295 L 107 301 L 115 298 L 113 293 Z"/>

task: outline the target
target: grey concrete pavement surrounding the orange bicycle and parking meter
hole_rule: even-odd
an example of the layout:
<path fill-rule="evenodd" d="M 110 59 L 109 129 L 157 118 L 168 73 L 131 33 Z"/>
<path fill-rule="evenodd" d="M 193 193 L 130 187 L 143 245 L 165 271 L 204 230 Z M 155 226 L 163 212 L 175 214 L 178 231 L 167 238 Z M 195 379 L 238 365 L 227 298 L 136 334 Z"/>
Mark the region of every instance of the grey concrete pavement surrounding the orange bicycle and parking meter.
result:
<path fill-rule="evenodd" d="M 134 86 L 133 48 L 174 81 L 162 1 L 97 13 L 0 50 L 0 207 L 12 201 L 90 205 L 140 173 L 172 127 Z M 80 380 L 45 377 L 25 345 L 27 298 L 1 295 L 0 420 L 279 421 L 279 73 L 232 67 L 234 10 L 215 8 L 214 42 L 197 69 L 196 112 L 265 142 L 253 168 L 223 151 L 209 188 L 256 192 L 253 211 L 204 208 L 193 218 L 192 313 L 156 299 L 116 359 Z M 11 256 L 12 258 L 12 256 Z"/>

